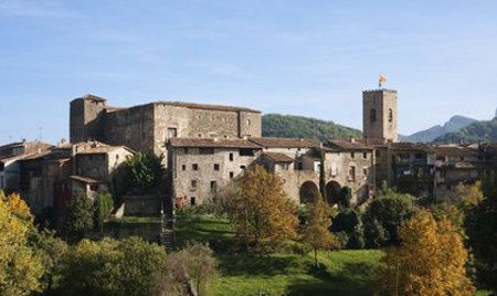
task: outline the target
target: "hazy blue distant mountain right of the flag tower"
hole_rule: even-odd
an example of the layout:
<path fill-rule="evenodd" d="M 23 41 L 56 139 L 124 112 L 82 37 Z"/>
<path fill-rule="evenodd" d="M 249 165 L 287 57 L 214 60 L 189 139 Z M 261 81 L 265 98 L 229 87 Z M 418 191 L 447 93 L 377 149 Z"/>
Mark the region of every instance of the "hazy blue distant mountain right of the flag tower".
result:
<path fill-rule="evenodd" d="M 402 141 L 427 142 L 427 141 L 432 141 L 435 138 L 441 137 L 442 135 L 445 135 L 447 133 L 457 131 L 461 128 L 466 127 L 475 121 L 476 120 L 473 118 L 456 115 L 456 116 L 451 117 L 451 119 L 447 123 L 445 123 L 443 126 L 441 126 L 441 125 L 433 126 L 429 129 L 414 133 L 410 136 L 400 136 L 400 138 Z"/>

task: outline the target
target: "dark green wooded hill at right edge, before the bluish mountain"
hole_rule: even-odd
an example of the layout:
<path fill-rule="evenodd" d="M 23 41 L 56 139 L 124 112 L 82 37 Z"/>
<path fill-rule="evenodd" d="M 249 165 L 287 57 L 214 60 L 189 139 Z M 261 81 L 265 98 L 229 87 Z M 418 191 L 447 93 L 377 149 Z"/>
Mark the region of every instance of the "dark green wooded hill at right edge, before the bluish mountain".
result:
<path fill-rule="evenodd" d="M 497 118 L 493 120 L 476 121 L 458 131 L 445 134 L 436 139 L 434 142 L 476 142 L 476 141 L 493 141 L 497 142 Z"/>

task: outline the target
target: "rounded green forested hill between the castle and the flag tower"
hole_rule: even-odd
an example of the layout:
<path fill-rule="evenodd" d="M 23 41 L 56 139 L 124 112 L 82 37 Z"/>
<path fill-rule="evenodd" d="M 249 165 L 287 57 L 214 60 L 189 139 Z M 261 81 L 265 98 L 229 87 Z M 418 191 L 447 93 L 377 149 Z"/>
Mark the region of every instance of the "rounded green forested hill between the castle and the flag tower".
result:
<path fill-rule="evenodd" d="M 324 142 L 329 139 L 362 137 L 362 133 L 359 129 L 337 125 L 334 121 L 281 114 L 263 115 L 262 133 L 264 137 L 317 138 Z"/>

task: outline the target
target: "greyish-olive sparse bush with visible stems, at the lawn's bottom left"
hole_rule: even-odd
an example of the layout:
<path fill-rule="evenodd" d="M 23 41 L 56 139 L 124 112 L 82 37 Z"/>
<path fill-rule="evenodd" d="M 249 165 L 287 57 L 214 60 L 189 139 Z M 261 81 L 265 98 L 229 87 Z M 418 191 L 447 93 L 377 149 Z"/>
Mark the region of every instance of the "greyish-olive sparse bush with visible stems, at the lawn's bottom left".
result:
<path fill-rule="evenodd" d="M 208 245 L 193 243 L 167 257 L 157 279 L 155 295 L 205 295 L 205 286 L 215 274 L 216 263 L 212 250 Z"/>

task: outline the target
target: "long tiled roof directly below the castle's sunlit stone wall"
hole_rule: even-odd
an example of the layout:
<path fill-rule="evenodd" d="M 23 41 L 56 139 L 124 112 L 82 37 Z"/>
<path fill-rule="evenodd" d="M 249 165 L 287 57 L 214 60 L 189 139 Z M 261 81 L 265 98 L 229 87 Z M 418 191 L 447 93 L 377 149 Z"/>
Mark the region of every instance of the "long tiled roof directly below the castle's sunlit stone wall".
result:
<path fill-rule="evenodd" d="M 246 139 L 171 138 L 169 144 L 172 147 L 261 148 Z"/>

